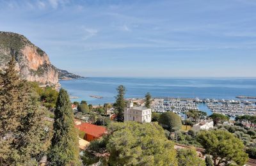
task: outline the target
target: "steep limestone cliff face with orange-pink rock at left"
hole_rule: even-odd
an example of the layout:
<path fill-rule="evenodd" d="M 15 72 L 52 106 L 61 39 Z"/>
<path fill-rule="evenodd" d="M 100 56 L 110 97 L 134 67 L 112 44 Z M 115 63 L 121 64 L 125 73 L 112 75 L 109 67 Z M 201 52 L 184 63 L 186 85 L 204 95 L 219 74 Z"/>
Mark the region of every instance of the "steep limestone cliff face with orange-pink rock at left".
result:
<path fill-rule="evenodd" d="M 58 83 L 58 70 L 43 50 L 20 34 L 0 32 L 0 69 L 6 67 L 12 55 L 23 79 L 41 84 Z"/>

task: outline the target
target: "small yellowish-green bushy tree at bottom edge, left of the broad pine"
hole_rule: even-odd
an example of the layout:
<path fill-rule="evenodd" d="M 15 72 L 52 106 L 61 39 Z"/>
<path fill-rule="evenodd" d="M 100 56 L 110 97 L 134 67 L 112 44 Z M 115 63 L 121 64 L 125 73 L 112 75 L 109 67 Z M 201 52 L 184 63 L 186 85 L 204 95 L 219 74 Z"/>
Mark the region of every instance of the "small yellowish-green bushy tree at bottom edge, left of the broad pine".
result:
<path fill-rule="evenodd" d="M 204 160 L 197 156 L 195 148 L 177 150 L 179 166 L 205 166 Z"/>

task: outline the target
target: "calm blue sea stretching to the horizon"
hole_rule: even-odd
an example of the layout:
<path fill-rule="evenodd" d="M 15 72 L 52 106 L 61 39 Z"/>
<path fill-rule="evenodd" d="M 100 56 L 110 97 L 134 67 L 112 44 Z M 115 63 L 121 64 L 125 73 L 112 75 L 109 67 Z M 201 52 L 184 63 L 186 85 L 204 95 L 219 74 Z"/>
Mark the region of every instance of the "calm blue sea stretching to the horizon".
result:
<path fill-rule="evenodd" d="M 152 97 L 200 98 L 239 100 L 236 96 L 256 96 L 256 77 L 86 77 L 85 79 L 60 80 L 71 101 L 103 105 L 115 102 L 116 87 L 125 86 L 125 98 Z M 92 98 L 90 96 L 102 96 Z M 244 100 L 244 99 L 243 99 Z M 206 105 L 199 109 L 211 114 Z"/>

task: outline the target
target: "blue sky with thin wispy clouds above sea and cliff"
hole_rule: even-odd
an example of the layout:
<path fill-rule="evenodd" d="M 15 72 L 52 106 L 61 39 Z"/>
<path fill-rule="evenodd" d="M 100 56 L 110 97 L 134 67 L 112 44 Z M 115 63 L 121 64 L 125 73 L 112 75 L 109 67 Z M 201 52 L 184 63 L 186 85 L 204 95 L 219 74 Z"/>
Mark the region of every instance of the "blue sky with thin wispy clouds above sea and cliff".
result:
<path fill-rule="evenodd" d="M 88 77 L 256 76 L 255 0 L 0 0 L 0 31 Z"/>

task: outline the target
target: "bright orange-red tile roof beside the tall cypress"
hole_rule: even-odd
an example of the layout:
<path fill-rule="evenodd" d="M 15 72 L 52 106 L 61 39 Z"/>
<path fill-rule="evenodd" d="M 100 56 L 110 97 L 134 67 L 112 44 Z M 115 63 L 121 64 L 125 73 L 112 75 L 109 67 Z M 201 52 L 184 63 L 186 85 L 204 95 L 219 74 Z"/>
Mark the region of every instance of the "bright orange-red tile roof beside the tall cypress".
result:
<path fill-rule="evenodd" d="M 107 129 L 105 127 L 97 126 L 90 123 L 81 123 L 79 125 L 76 125 L 76 128 L 85 132 L 86 134 L 93 135 L 94 137 L 102 137 L 102 135 L 107 132 Z"/>

